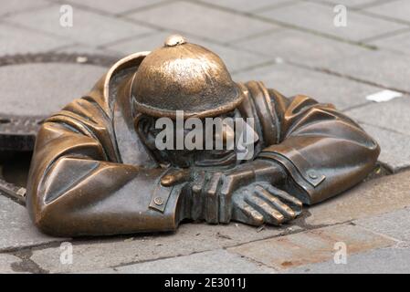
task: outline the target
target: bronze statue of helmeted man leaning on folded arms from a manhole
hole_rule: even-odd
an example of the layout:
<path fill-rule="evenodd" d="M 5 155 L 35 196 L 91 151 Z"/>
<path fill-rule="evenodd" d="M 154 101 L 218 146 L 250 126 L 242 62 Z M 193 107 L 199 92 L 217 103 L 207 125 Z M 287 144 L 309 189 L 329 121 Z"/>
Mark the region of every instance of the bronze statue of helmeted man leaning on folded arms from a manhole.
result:
<path fill-rule="evenodd" d="M 183 119 L 254 119 L 252 159 L 237 160 L 236 148 L 159 150 L 155 123 L 176 110 Z M 26 206 L 38 228 L 59 236 L 172 231 L 184 219 L 283 224 L 303 203 L 360 183 L 379 152 L 331 104 L 236 83 L 216 54 L 170 36 L 122 58 L 45 120 Z"/>

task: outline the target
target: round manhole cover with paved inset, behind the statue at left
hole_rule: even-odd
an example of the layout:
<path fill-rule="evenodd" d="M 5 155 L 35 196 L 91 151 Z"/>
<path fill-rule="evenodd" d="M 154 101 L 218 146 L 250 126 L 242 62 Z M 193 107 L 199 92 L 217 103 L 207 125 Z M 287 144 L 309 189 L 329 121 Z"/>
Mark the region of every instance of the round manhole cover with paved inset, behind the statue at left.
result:
<path fill-rule="evenodd" d="M 0 193 L 24 203 L 25 188 L 5 180 L 11 154 L 32 151 L 41 121 L 89 91 L 118 59 L 66 53 L 0 57 Z"/>

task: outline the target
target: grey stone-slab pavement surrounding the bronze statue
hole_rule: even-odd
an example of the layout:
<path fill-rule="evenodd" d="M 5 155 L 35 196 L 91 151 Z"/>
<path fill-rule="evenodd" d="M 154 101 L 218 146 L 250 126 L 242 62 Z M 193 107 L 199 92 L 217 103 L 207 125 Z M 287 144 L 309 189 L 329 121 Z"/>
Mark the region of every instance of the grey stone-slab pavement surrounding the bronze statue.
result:
<path fill-rule="evenodd" d="M 338 4 L 347 26 L 334 25 Z M 72 27 L 60 25 L 62 5 L 73 8 Z M 183 224 L 174 234 L 77 240 L 39 234 L 0 193 L 0 272 L 409 273 L 410 0 L 4 1 L 0 57 L 78 59 L 0 66 L 0 114 L 58 110 L 107 68 L 85 54 L 150 50 L 171 33 L 213 49 L 237 81 L 334 103 L 381 144 L 379 173 L 279 228 Z M 401 97 L 366 99 L 383 90 Z M 24 167 L 15 157 L 2 168 L 6 177 Z"/>

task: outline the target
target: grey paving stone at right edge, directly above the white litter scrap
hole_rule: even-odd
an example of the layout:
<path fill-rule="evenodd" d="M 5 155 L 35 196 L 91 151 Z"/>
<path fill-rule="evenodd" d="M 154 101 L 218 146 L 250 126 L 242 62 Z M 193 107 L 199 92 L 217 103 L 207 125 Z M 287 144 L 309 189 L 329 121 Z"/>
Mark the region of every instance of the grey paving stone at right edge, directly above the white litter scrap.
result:
<path fill-rule="evenodd" d="M 410 56 L 386 50 L 361 53 L 329 63 L 327 68 L 353 78 L 410 92 Z"/>

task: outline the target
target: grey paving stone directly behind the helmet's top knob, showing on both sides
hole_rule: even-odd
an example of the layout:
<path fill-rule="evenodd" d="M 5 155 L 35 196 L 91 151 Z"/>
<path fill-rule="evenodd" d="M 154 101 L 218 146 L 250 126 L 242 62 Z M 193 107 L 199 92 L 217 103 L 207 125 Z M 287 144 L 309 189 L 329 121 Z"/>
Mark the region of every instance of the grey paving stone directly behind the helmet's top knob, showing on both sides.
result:
<path fill-rule="evenodd" d="M 120 42 L 113 46 L 107 47 L 110 50 L 121 52 L 121 55 L 128 55 L 138 51 L 152 50 L 156 47 L 162 47 L 166 36 L 171 33 L 153 34 L 150 36 L 134 37 L 131 40 Z M 249 68 L 256 64 L 272 59 L 272 57 L 260 56 L 257 54 L 244 52 L 233 47 L 226 47 L 211 43 L 194 36 L 184 35 L 190 43 L 198 44 L 215 52 L 226 63 L 226 67 L 232 72 L 243 68 Z"/>

